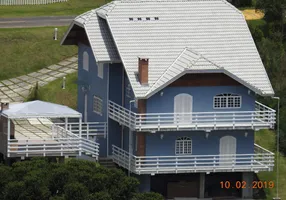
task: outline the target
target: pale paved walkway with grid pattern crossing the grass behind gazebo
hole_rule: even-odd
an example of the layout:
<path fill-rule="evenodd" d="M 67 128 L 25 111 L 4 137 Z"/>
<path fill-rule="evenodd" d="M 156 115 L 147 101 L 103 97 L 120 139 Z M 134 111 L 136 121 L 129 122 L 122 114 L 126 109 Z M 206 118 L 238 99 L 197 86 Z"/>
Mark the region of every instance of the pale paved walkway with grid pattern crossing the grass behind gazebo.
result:
<path fill-rule="evenodd" d="M 44 86 L 76 71 L 77 57 L 71 57 L 37 72 L 0 81 L 0 99 L 9 102 L 22 102 L 28 97 L 36 82 L 39 86 Z"/>

